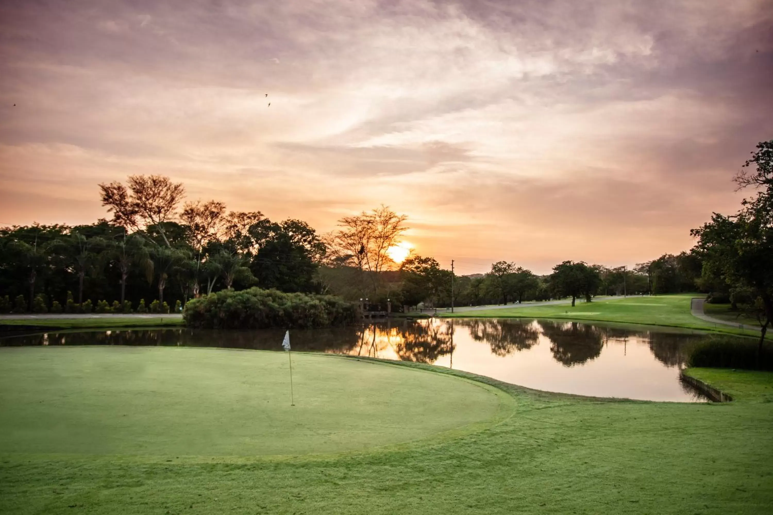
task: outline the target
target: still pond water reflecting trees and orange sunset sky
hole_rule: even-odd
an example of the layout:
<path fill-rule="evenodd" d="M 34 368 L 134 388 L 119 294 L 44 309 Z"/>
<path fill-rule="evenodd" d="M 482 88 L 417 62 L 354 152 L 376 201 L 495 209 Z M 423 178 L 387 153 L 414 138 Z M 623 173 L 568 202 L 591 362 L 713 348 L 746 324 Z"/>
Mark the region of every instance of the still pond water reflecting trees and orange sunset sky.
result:
<path fill-rule="evenodd" d="M 108 330 L 6 337 L 0 346 L 165 345 L 281 351 L 284 330 Z M 704 401 L 679 381 L 700 335 L 547 320 L 386 320 L 291 330 L 294 351 L 419 361 L 545 391 Z"/>

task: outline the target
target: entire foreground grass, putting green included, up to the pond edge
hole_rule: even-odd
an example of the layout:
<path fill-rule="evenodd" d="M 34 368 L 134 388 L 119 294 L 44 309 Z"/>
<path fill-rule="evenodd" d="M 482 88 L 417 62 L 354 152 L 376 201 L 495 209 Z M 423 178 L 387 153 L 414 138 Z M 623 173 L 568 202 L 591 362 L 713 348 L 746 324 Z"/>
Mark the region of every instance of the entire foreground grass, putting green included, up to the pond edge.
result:
<path fill-rule="evenodd" d="M 0 349 L 0 512 L 725 514 L 773 505 L 773 402 L 755 393 L 773 374 L 741 381 L 712 371 L 738 400 L 692 405 L 308 354 L 295 356 L 294 411 L 283 358 Z M 293 449 L 300 456 L 265 456 Z M 360 450 L 303 454 L 336 449 Z"/>

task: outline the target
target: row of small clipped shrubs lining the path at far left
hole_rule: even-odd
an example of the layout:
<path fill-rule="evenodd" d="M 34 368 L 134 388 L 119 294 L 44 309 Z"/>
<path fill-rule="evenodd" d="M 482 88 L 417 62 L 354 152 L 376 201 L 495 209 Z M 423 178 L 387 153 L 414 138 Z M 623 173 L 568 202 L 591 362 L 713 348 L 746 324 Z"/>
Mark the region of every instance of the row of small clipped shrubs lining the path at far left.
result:
<path fill-rule="evenodd" d="M 160 303 L 154 300 L 150 306 L 145 306 L 145 299 L 140 300 L 136 310 L 131 307 L 129 300 L 124 300 L 121 304 L 117 300 L 108 303 L 107 300 L 99 300 L 96 304 L 91 300 L 84 300 L 83 303 L 76 303 L 73 300 L 73 293 L 67 292 L 67 302 L 64 306 L 54 300 L 49 304 L 45 293 L 38 293 L 32 299 L 32 313 L 169 313 L 172 308 L 167 303 Z M 29 304 L 25 296 L 19 295 L 11 303 L 9 296 L 0 296 L 0 313 L 29 313 Z M 182 304 L 178 300 L 175 303 L 174 313 L 182 313 Z"/>

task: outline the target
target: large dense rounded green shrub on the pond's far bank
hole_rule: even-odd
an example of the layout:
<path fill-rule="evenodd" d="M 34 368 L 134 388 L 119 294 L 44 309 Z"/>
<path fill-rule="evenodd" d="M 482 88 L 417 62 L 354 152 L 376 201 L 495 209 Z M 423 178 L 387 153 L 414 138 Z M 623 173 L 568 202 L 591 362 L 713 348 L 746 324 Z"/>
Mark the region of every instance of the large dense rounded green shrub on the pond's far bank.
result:
<path fill-rule="evenodd" d="M 357 307 L 336 296 L 250 288 L 222 290 L 191 299 L 182 317 L 190 327 L 312 328 L 352 323 L 357 317 Z"/>

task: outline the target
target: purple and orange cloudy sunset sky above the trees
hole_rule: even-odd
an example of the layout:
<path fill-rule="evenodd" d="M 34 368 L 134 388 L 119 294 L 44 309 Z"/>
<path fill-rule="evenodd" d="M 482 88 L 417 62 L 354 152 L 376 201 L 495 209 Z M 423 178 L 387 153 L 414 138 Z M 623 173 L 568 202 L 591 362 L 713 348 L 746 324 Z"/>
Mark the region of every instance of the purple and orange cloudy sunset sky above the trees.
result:
<path fill-rule="evenodd" d="M 737 210 L 771 112 L 771 0 L 6 0 L 0 223 L 165 174 L 318 232 L 389 205 L 458 273 L 630 266 Z"/>

